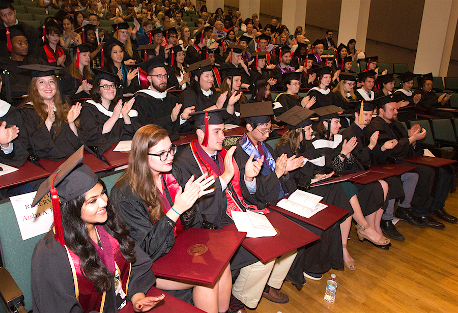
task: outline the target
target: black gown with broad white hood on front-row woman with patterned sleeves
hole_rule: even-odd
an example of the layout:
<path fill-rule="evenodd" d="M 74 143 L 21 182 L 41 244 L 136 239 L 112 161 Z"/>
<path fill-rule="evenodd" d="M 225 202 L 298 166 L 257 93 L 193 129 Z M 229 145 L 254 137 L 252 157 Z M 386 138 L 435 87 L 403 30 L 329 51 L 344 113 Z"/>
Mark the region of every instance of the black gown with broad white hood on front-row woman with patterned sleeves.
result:
<path fill-rule="evenodd" d="M 344 138 L 337 134 L 332 140 L 327 140 L 320 136 L 314 137 L 307 145 L 307 158 L 317 158 L 325 156 L 326 164 L 324 173 L 335 172 L 340 173 L 357 173 L 364 170 L 363 165 L 351 154 L 350 158 L 346 158 L 343 162 L 339 158 L 340 151 Z M 358 190 L 358 201 L 361 205 L 361 211 L 364 216 L 370 215 L 380 209 L 385 203 L 382 185 L 379 182 L 362 185 L 353 183 Z"/>

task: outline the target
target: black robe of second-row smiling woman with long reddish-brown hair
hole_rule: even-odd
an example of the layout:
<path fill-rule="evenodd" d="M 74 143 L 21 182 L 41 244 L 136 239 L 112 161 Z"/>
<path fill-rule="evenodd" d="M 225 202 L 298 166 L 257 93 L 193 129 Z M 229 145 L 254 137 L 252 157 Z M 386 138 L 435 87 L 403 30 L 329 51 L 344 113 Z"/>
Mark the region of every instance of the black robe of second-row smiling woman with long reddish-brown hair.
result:
<path fill-rule="evenodd" d="M 82 132 L 78 129 L 76 136 L 67 122 L 62 122 L 59 132 L 56 133 L 56 120 L 48 131 L 42 119 L 38 116 L 33 105 L 25 105 L 19 109 L 24 122 L 24 130 L 19 132 L 21 138 L 28 138 L 29 154 L 42 159 L 59 161 L 70 156 L 84 144 Z"/>

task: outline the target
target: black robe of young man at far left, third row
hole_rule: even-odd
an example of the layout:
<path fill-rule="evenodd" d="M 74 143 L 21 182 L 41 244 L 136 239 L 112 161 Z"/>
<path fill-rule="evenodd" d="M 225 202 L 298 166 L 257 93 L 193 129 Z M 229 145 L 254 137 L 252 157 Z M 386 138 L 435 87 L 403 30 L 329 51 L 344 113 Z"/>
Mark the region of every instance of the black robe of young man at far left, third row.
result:
<path fill-rule="evenodd" d="M 3 55 L 9 55 L 9 52 Z M 18 68 L 21 65 L 30 65 L 30 64 L 47 64 L 41 58 L 33 58 L 32 56 L 26 56 L 23 61 L 13 61 L 8 56 L 0 58 L 0 63 L 5 63 L 8 72 L 8 78 L 10 80 L 10 90 L 13 97 L 20 97 L 26 95 L 28 92 L 28 87 L 30 86 L 30 81 L 32 75 L 30 70 Z M 4 82 L 5 83 L 5 82 Z"/>

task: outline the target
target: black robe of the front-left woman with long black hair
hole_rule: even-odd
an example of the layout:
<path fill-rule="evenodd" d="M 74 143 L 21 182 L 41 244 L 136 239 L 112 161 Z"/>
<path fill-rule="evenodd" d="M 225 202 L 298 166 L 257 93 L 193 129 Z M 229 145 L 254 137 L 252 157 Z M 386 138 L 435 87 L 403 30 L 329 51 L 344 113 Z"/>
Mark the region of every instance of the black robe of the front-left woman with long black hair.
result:
<path fill-rule="evenodd" d="M 156 282 L 151 271 L 151 259 L 139 247 L 135 246 L 135 263 L 129 275 L 127 297 L 136 293 L 147 293 Z M 74 312 L 83 313 L 75 296 L 72 268 L 67 250 L 54 239 L 52 231 L 48 232 L 35 246 L 32 255 L 32 306 L 34 312 Z M 115 295 L 115 280 L 110 279 L 110 289 L 106 292 L 104 313 L 118 311 Z"/>

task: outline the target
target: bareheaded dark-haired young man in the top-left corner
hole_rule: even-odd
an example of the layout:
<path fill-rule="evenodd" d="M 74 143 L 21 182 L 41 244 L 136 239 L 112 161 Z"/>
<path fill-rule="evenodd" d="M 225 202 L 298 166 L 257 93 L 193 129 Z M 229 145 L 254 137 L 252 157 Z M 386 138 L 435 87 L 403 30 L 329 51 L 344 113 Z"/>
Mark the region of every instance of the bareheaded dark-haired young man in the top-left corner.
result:
<path fill-rule="evenodd" d="M 0 25 L 0 30 L 4 32 L 5 29 L 9 29 L 14 25 L 20 26 L 24 37 L 27 39 L 29 55 L 36 56 L 36 53 L 43 45 L 40 41 L 41 35 L 39 35 L 35 27 L 17 20 L 16 10 L 14 9 L 12 3 L 13 1 L 3 1 L 0 4 L 0 19 L 3 22 Z M 7 49 L 7 39 L 2 38 L 0 42 L 0 55 L 8 55 L 9 51 L 11 50 Z"/>

